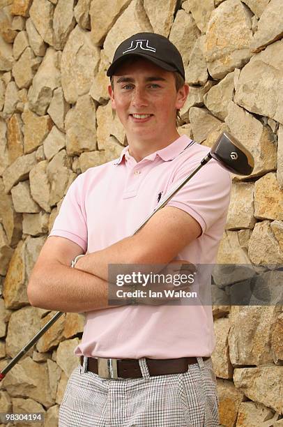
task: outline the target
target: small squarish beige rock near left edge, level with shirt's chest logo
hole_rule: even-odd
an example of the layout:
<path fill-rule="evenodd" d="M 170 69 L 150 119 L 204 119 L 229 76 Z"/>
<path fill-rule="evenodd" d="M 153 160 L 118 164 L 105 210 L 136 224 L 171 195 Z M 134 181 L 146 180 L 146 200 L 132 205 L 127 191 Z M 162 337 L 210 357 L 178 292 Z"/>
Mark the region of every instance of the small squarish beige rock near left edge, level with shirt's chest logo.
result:
<path fill-rule="evenodd" d="M 31 197 L 29 181 L 19 182 L 11 189 L 11 195 L 16 212 L 36 213 L 40 211 L 40 207 Z"/>

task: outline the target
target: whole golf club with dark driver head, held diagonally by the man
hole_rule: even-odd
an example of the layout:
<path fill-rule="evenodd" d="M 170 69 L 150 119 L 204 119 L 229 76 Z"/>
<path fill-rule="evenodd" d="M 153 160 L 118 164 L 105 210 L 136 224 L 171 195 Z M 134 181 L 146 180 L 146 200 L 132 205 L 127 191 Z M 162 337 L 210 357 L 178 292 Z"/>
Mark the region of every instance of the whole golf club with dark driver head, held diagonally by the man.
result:
<path fill-rule="evenodd" d="M 186 177 L 183 179 L 181 183 L 176 186 L 171 192 L 160 200 L 158 203 L 158 206 L 154 209 L 154 211 L 144 220 L 144 222 L 135 230 L 135 232 L 132 235 L 135 235 L 139 230 L 144 227 L 144 225 L 148 222 L 148 220 L 162 207 L 165 207 L 165 204 L 171 200 L 171 198 L 177 193 L 178 190 L 180 190 L 185 183 L 190 181 L 192 177 L 203 167 L 208 163 L 209 160 L 214 158 L 217 163 L 219 163 L 224 169 L 229 170 L 230 172 L 233 172 L 234 174 L 238 175 L 249 175 L 252 173 L 252 170 L 254 168 L 254 158 L 252 157 L 252 154 L 250 151 L 247 151 L 247 149 L 243 146 L 243 144 L 240 144 L 236 138 L 234 138 L 232 135 L 230 135 L 227 132 L 224 132 L 218 137 L 215 144 L 213 144 L 213 147 L 211 148 L 211 151 L 201 160 L 201 163 Z M 45 326 L 38 331 L 38 333 L 31 338 L 29 343 L 27 343 L 20 352 L 18 352 L 13 359 L 10 360 L 9 364 L 3 368 L 0 372 L 0 381 L 3 380 L 3 377 L 5 377 L 6 373 L 13 368 L 13 366 L 19 361 L 22 356 L 39 340 L 43 334 L 49 329 L 49 327 L 56 322 L 59 317 L 63 315 L 63 312 L 59 311 L 57 312 L 50 320 L 45 324 Z"/>

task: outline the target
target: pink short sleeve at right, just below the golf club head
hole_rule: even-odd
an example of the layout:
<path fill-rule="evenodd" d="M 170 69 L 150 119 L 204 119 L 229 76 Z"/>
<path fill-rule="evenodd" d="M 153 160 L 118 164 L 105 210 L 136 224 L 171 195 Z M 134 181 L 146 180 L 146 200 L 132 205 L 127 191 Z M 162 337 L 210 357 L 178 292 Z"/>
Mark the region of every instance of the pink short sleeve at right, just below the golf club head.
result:
<path fill-rule="evenodd" d="M 174 188 L 190 174 L 186 165 L 178 170 Z M 171 190 L 171 189 L 169 189 Z M 178 190 L 167 206 L 178 207 L 197 220 L 202 234 L 219 218 L 227 214 L 231 193 L 231 174 L 210 160 L 199 172 Z"/>

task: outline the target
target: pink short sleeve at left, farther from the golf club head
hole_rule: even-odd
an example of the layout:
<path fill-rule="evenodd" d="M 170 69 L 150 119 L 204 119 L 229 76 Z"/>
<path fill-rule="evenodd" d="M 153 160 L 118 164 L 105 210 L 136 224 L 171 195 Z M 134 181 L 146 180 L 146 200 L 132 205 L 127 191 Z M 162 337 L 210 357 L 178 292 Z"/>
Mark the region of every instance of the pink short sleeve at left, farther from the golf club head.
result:
<path fill-rule="evenodd" d="M 49 236 L 66 237 L 86 252 L 87 226 L 83 178 L 83 174 L 79 175 L 68 188 Z"/>

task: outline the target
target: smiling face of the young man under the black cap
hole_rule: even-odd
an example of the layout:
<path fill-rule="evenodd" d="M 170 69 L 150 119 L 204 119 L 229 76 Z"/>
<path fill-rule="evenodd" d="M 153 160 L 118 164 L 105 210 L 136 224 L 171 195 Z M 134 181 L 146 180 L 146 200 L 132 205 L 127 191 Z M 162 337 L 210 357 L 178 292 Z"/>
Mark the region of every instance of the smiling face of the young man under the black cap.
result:
<path fill-rule="evenodd" d="M 188 85 L 177 92 L 174 73 L 146 59 L 125 61 L 114 75 L 114 90 L 108 90 L 129 144 L 178 137 L 176 110 L 185 103 Z"/>

